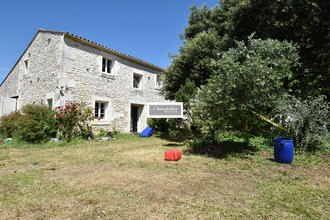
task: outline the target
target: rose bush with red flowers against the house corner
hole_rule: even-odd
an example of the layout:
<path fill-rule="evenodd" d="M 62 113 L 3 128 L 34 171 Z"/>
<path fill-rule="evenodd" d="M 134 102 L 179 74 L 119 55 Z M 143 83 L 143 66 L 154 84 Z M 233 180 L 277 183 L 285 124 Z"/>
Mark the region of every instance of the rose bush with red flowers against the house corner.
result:
<path fill-rule="evenodd" d="M 71 102 L 65 106 L 55 108 L 59 122 L 59 131 L 67 141 L 71 141 L 73 135 L 81 135 L 82 132 L 91 133 L 88 121 L 94 119 L 93 109 L 85 103 Z"/>

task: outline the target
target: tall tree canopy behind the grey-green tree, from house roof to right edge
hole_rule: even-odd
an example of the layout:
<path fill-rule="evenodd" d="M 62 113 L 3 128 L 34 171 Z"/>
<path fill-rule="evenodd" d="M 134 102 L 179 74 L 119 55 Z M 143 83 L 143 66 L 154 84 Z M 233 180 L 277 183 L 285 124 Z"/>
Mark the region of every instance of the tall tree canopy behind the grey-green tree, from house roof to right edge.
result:
<path fill-rule="evenodd" d="M 306 97 L 327 95 L 329 98 L 330 2 L 325 0 L 221 0 L 207 8 L 191 7 L 189 26 L 181 36 L 185 41 L 173 56 L 165 87 L 168 98 L 193 80 L 197 87 L 206 83 L 212 72 L 210 59 L 219 52 L 235 47 L 235 40 L 277 39 L 298 45 L 300 66 L 283 80 L 283 87 Z"/>

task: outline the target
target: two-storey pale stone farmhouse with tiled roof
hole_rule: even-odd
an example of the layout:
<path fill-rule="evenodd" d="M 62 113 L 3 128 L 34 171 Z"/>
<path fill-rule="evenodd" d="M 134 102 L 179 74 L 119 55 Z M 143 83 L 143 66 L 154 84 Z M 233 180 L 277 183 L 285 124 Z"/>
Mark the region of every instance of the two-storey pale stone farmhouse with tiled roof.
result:
<path fill-rule="evenodd" d="M 147 102 L 163 102 L 164 69 L 67 32 L 39 29 L 0 85 L 0 116 L 26 104 L 85 102 L 95 130 L 141 132 Z"/>

